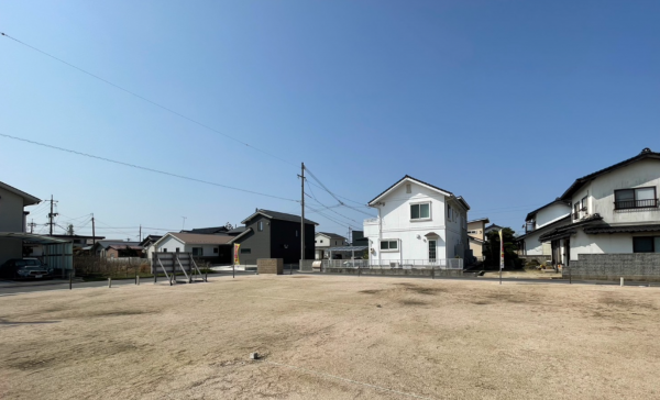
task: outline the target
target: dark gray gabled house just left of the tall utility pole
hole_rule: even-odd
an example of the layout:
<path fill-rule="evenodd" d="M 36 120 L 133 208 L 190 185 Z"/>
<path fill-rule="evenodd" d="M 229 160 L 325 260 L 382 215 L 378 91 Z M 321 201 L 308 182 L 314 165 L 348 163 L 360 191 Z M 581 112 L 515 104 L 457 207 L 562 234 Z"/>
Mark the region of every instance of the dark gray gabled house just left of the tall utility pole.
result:
<path fill-rule="evenodd" d="M 257 209 L 241 222 L 244 231 L 238 243 L 241 264 L 255 265 L 258 258 L 283 258 L 285 264 L 300 259 L 300 216 Z M 318 223 L 305 219 L 305 259 L 314 259 L 314 236 Z"/>

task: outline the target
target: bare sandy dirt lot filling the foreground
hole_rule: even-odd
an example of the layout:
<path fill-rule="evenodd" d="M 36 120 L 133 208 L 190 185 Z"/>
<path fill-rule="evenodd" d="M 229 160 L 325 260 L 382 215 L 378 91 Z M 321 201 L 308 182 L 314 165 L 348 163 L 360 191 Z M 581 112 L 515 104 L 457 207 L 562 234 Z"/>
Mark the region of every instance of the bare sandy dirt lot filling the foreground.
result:
<path fill-rule="evenodd" d="M 658 288 L 305 275 L 0 297 L 0 398 L 660 398 L 659 309 Z"/>

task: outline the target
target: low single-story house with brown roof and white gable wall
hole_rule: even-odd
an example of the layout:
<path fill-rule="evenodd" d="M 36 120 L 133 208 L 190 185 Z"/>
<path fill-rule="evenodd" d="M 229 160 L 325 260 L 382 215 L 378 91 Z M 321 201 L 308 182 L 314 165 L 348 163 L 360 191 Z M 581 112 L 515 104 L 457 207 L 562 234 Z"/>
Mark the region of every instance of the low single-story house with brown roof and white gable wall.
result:
<path fill-rule="evenodd" d="M 211 264 L 231 264 L 234 236 L 199 233 L 169 232 L 146 248 L 151 259 L 153 253 L 191 253 Z"/>

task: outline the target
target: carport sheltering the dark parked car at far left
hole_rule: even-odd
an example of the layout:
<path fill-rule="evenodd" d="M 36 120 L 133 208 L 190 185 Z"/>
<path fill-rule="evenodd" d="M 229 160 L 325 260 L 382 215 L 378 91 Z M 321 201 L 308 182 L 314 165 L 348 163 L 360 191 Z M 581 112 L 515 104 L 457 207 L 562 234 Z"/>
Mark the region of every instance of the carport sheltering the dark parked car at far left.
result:
<path fill-rule="evenodd" d="M 0 232 L 1 241 L 21 241 L 23 243 L 40 244 L 44 254 L 40 258 L 42 263 L 53 268 L 53 275 L 67 277 L 74 269 L 74 244 L 72 241 L 59 237 L 42 236 L 23 232 Z M 15 258 L 21 258 L 16 254 Z"/>

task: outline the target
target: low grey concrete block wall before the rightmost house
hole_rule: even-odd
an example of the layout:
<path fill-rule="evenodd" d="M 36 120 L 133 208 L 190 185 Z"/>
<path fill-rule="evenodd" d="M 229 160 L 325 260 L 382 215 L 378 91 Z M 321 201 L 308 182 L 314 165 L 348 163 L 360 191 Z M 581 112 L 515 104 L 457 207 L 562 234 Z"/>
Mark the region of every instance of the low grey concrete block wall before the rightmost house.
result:
<path fill-rule="evenodd" d="M 593 280 L 660 281 L 660 253 L 579 254 L 562 277 Z"/>

